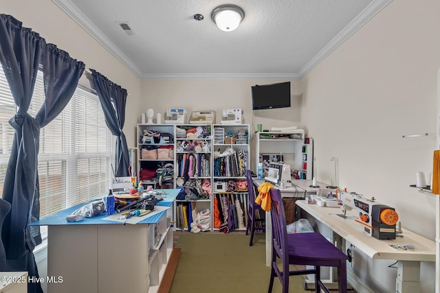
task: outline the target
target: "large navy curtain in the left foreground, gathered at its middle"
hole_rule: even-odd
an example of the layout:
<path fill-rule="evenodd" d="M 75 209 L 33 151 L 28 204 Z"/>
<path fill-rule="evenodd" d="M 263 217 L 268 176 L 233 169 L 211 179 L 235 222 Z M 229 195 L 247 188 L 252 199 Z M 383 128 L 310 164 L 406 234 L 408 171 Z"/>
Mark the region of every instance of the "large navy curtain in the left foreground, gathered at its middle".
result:
<path fill-rule="evenodd" d="M 3 200 L 11 210 L 3 222 L 4 270 L 38 276 L 32 250 L 41 244 L 39 220 L 38 153 L 40 129 L 50 123 L 72 97 L 85 69 L 83 62 L 69 57 L 55 45 L 22 27 L 12 16 L 0 14 L 0 62 L 5 71 L 17 113 L 10 119 L 14 141 L 3 186 Z M 45 102 L 35 117 L 28 114 L 36 73 L 43 64 Z M 28 283 L 28 292 L 43 292 L 39 283 Z"/>

